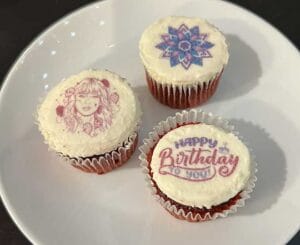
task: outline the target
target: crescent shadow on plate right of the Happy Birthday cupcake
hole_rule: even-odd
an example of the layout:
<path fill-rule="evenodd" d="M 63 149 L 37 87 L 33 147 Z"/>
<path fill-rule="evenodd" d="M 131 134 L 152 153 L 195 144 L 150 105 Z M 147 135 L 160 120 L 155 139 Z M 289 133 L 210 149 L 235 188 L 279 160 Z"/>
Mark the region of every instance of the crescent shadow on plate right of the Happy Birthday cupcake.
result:
<path fill-rule="evenodd" d="M 252 122 L 231 119 L 237 131 L 249 143 L 256 156 L 257 182 L 251 198 L 237 215 L 251 215 L 264 212 L 277 202 L 284 188 L 287 176 L 287 163 L 283 150 L 268 132 Z"/>

